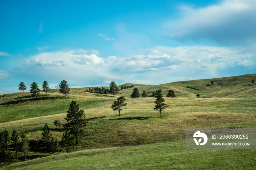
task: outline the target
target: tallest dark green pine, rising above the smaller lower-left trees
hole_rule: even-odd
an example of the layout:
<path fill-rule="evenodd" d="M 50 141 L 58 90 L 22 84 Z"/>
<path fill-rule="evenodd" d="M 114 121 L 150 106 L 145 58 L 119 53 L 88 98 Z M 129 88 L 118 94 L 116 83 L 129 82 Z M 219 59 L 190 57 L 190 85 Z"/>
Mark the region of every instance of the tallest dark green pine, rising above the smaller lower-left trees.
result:
<path fill-rule="evenodd" d="M 76 104 L 75 101 L 71 101 L 69 104 L 65 120 L 67 120 L 67 123 L 63 124 L 63 127 L 75 136 L 76 144 L 78 144 L 78 138 L 84 132 L 82 128 L 86 126 L 87 121 L 85 120 L 84 111 L 79 110 L 79 104 Z"/>

